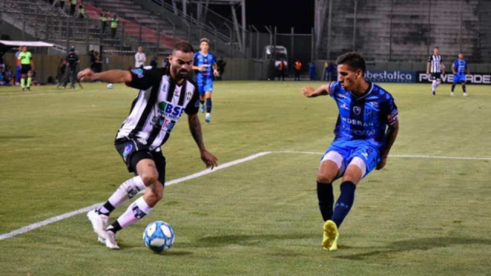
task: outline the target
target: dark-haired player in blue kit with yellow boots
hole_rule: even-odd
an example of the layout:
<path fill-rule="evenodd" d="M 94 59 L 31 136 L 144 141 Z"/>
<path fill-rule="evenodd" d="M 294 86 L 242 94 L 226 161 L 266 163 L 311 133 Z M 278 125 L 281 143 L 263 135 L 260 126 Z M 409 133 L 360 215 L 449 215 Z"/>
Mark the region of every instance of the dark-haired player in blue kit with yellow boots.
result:
<path fill-rule="evenodd" d="M 305 97 L 331 96 L 339 109 L 334 141 L 321 157 L 317 196 L 324 220 L 321 246 L 338 249 L 339 227 L 354 201 L 356 185 L 373 169 L 384 168 L 399 129 L 392 95 L 364 79 L 365 60 L 349 52 L 338 57 L 338 81 L 317 89 L 302 88 Z M 332 181 L 341 178 L 341 194 L 334 205 Z"/>

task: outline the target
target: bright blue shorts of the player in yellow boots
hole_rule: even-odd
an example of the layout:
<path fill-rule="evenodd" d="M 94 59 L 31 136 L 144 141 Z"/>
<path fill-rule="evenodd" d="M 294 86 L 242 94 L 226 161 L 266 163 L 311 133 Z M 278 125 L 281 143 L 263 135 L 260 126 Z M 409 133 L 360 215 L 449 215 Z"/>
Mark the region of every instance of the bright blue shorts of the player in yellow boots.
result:
<path fill-rule="evenodd" d="M 366 170 L 362 178 L 365 177 L 369 172 L 373 171 L 378 162 L 380 162 L 380 152 L 378 151 L 378 149 L 370 144 L 370 142 L 365 140 L 334 140 L 329 148 L 327 148 L 324 155 L 322 155 L 321 162 L 326 159 L 330 159 L 329 157 L 333 156 L 332 152 L 336 152 L 342 157 L 341 164 L 338 164 L 337 160 L 333 160 L 334 163 L 337 163 L 339 167 L 339 174 L 336 179 L 343 176 L 344 171 L 354 157 L 359 157 L 363 160 L 363 163 L 365 164 Z"/>

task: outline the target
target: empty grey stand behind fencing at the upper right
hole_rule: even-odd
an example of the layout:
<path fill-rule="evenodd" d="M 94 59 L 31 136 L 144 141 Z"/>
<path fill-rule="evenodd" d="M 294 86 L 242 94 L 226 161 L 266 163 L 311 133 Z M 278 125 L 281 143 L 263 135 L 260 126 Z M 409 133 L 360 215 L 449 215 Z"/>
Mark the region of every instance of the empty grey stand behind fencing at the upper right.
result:
<path fill-rule="evenodd" d="M 332 0 L 329 57 L 355 50 L 368 60 L 420 61 L 438 45 L 446 60 L 462 51 L 470 62 L 489 62 L 490 6 L 479 0 Z M 328 20 L 324 22 L 320 57 L 327 56 Z"/>

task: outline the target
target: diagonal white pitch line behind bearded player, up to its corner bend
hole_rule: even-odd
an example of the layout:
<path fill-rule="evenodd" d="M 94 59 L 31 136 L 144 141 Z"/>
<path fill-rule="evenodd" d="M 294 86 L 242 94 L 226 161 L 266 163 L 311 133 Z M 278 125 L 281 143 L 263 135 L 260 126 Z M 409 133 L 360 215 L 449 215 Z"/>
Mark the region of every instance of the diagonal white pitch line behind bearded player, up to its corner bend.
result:
<path fill-rule="evenodd" d="M 165 186 L 169 186 L 169 185 L 172 185 L 172 184 L 175 184 L 175 183 L 179 183 L 179 182 L 183 182 L 183 181 L 186 181 L 186 180 L 189 180 L 189 179 L 193 179 L 193 178 L 196 178 L 196 177 L 199 177 L 199 176 L 203 176 L 205 174 L 216 172 L 218 170 L 225 169 L 225 168 L 228 168 L 230 166 L 234 166 L 234 165 L 237 165 L 239 163 L 246 162 L 246 161 L 252 160 L 254 158 L 257 158 L 257 157 L 260 157 L 260 156 L 263 156 L 263 155 L 266 155 L 266 154 L 269 154 L 269 153 L 271 153 L 271 151 L 263 151 L 263 152 L 259 152 L 259 153 L 256 153 L 256 154 L 253 154 L 253 155 L 244 157 L 244 158 L 233 160 L 231 162 L 227 162 L 227 163 L 221 164 L 221 165 L 215 167 L 213 170 L 207 169 L 207 170 L 203 170 L 203 171 L 200 171 L 200 172 L 197 172 L 197 173 L 193 173 L 193 174 L 188 175 L 188 176 L 184 176 L 184 177 L 181 177 L 181 178 L 170 180 L 169 182 L 166 182 L 165 183 Z M 97 206 L 100 206 L 102 203 L 104 203 L 104 202 L 96 203 L 96 204 L 93 204 L 93 205 L 84 207 L 82 209 L 79 209 L 79 210 L 75 210 L 75 211 L 72 211 L 72 212 L 69 212 L 69 213 L 64 213 L 64 214 L 61 214 L 61 215 L 56 216 L 56 217 L 51 217 L 49 219 L 45 219 L 45 220 L 42 220 L 42 221 L 39 221 L 39 222 L 36 222 L 36 223 L 33 223 L 33 224 L 29 224 L 29 225 L 24 226 L 24 227 L 20 227 L 18 229 L 15 229 L 14 231 L 1 234 L 0 235 L 0 241 L 1 240 L 4 240 L 4 239 L 11 238 L 11 237 L 16 236 L 16 235 L 19 235 L 19 234 L 23 234 L 23 233 L 29 232 L 31 230 L 34 230 L 34 229 L 39 228 L 39 227 L 44 226 L 44 225 L 48 225 L 50 223 L 57 222 L 59 220 L 65 219 L 65 218 L 69 218 L 69 217 L 78 215 L 80 213 L 88 212 L 88 211 L 96 208 Z"/>

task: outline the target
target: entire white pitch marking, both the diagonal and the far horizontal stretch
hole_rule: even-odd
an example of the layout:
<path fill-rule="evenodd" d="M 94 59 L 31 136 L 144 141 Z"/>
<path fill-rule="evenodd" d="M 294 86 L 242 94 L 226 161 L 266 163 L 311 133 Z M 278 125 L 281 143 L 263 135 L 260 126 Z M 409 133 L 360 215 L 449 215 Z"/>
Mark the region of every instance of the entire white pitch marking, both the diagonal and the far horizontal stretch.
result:
<path fill-rule="evenodd" d="M 180 177 L 180 178 L 176 178 L 176 179 L 170 180 L 170 181 L 168 181 L 168 182 L 165 183 L 165 186 L 170 186 L 170 185 L 173 185 L 173 184 L 176 184 L 176 183 L 179 183 L 179 182 L 183 182 L 183 181 L 186 181 L 186 180 L 194 179 L 194 178 L 197 178 L 197 177 L 200 177 L 200 176 L 203 176 L 203 175 L 212 173 L 212 172 L 216 172 L 218 170 L 225 169 L 225 168 L 228 168 L 228 167 L 231 167 L 231 166 L 234 166 L 234 165 L 237 165 L 237 164 L 240 164 L 240 163 L 243 163 L 243 162 L 246 162 L 246 161 L 255 159 L 257 157 L 264 156 L 266 154 L 270 154 L 270 153 L 298 153 L 298 154 L 318 154 L 318 155 L 323 154 L 323 152 L 313 152 L 313 151 L 288 151 L 288 150 L 283 150 L 283 151 L 262 151 L 262 152 L 258 152 L 258 153 L 253 154 L 253 155 L 249 155 L 249 156 L 244 157 L 244 158 L 236 159 L 236 160 L 233 160 L 231 162 L 227 162 L 227 163 L 221 164 L 221 165 L 215 167 L 213 170 L 206 169 L 206 170 L 203 170 L 203 171 L 200 171 L 200 172 L 197 172 L 197 173 L 193 173 L 193 174 L 190 174 L 190 175 L 187 175 L 187 176 L 184 176 L 184 177 Z M 405 158 L 491 160 L 491 157 L 458 157 L 458 156 L 398 155 L 398 154 L 393 154 L 393 155 L 389 155 L 389 156 L 390 157 L 405 157 Z M 61 215 L 58 215 L 58 216 L 55 216 L 55 217 L 51 217 L 51 218 L 48 218 L 48 219 L 45 219 L 45 220 L 42 220 L 42 221 L 39 221 L 39 222 L 36 222 L 36 223 L 29 224 L 29 225 L 24 226 L 24 227 L 20 227 L 18 229 L 15 229 L 14 231 L 1 234 L 0 235 L 0 241 L 1 240 L 8 239 L 8 238 L 11 238 L 11 237 L 14 237 L 14 236 L 17 236 L 17 235 L 20 235 L 20 234 L 23 234 L 23 233 L 26 233 L 26 232 L 29 232 L 29 231 L 34 230 L 36 228 L 39 228 L 41 226 L 48 225 L 48 224 L 51 224 L 53 222 L 60 221 L 62 219 L 70 218 L 72 216 L 75 216 L 75 215 L 78 215 L 78 214 L 81 214 L 81 213 L 84 213 L 84 212 L 88 212 L 88 211 L 96 208 L 97 206 L 99 206 L 99 205 L 101 205 L 103 203 L 104 202 L 99 202 L 99 203 L 96 203 L 96 204 L 93 204 L 93 205 L 90 205 L 90 206 L 86 206 L 86 207 L 84 207 L 82 209 L 78 209 L 78 210 L 75 210 L 75 211 L 72 211 L 72 212 L 68 212 L 68 213 L 64 213 L 64 214 L 61 214 Z"/>

